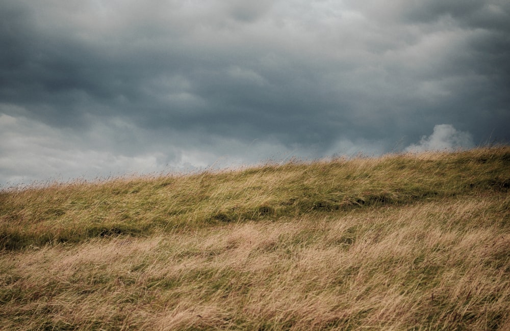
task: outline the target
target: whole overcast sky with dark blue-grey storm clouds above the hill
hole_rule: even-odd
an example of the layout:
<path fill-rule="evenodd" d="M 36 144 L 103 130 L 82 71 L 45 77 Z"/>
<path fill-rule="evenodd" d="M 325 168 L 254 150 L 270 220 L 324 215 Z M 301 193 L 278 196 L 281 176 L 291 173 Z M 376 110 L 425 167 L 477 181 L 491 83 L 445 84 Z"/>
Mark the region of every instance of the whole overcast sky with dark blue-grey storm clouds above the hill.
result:
<path fill-rule="evenodd" d="M 508 0 L 0 0 L 0 186 L 510 141 Z"/>

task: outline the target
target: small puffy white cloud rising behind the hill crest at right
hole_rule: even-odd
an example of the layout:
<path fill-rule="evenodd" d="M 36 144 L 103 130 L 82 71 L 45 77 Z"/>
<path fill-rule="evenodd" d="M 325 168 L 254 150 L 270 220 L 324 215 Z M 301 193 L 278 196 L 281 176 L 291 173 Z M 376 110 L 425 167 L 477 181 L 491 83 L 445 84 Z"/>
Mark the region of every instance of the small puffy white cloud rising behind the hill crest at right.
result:
<path fill-rule="evenodd" d="M 458 131 L 451 124 L 438 124 L 429 136 L 422 136 L 417 145 L 405 148 L 406 152 L 456 150 L 474 147 L 471 133 Z"/>

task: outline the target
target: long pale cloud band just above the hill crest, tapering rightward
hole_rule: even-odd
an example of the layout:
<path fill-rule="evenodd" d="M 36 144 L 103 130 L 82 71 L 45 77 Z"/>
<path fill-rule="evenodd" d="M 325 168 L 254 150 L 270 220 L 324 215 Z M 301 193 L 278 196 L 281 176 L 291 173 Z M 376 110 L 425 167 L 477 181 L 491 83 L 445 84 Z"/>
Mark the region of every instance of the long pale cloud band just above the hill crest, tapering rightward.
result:
<path fill-rule="evenodd" d="M 144 138 L 144 135 L 147 136 Z M 86 143 L 82 142 L 83 136 Z M 310 154 L 308 150 L 288 149 L 272 141 L 245 144 L 216 138 L 213 145 L 224 148 L 211 151 L 207 147 L 193 147 L 196 141 L 187 147 L 177 147 L 154 139 L 152 148 L 138 153 L 129 153 L 129 150 L 119 148 L 123 145 L 116 142 L 126 140 L 135 145 L 137 140 L 153 139 L 154 136 L 137 131 L 130 123 L 118 118 L 103 124 L 96 123 L 85 133 L 77 133 L 71 129 L 56 129 L 23 116 L 0 113 L 0 189 L 34 182 L 239 168 L 257 164 L 267 157 L 273 161 L 285 161 L 292 156 Z"/>

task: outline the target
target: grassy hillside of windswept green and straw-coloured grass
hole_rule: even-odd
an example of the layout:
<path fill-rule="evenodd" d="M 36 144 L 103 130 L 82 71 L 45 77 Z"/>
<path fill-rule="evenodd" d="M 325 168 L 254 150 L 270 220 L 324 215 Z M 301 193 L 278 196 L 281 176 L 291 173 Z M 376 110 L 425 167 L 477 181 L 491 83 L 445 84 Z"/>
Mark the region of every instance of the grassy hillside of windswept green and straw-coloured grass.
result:
<path fill-rule="evenodd" d="M 510 329 L 510 147 L 0 191 L 6 329 Z"/>

